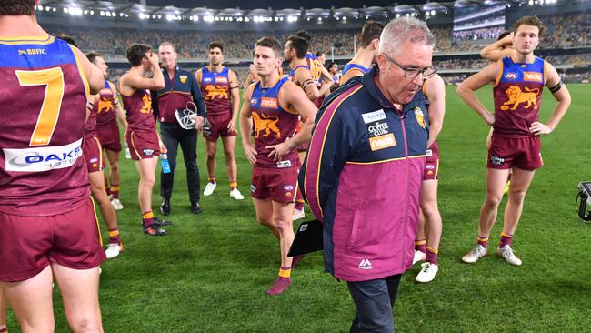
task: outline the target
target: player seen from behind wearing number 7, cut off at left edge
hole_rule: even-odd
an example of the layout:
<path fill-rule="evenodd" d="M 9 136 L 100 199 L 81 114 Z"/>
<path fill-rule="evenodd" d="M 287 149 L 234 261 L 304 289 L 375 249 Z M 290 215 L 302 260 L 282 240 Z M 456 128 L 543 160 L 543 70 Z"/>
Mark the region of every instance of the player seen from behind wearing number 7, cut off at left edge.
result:
<path fill-rule="evenodd" d="M 0 2 L 0 288 L 23 332 L 53 332 L 53 276 L 75 332 L 102 332 L 105 260 L 82 158 L 86 96 L 104 85 L 74 46 Z"/>

